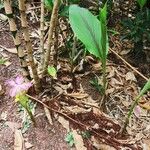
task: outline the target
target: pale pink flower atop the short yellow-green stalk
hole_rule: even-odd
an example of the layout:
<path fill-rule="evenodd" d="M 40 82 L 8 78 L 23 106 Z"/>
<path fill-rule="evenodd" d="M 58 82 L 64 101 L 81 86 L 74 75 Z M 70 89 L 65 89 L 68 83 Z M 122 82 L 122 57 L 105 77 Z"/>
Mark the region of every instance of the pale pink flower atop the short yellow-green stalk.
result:
<path fill-rule="evenodd" d="M 32 83 L 25 83 L 24 78 L 22 76 L 17 76 L 15 80 L 8 80 L 6 84 L 10 87 L 9 95 L 11 97 L 16 96 L 17 94 L 27 91 Z"/>

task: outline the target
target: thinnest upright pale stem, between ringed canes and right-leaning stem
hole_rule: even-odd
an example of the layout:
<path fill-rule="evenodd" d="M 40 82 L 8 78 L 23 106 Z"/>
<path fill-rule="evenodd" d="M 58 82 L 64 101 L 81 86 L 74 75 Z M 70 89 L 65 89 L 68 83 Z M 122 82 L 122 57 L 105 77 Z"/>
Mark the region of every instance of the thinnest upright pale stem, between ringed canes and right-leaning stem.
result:
<path fill-rule="evenodd" d="M 44 64 L 44 0 L 41 0 L 41 19 L 40 19 L 40 52 L 41 52 L 41 66 Z"/>

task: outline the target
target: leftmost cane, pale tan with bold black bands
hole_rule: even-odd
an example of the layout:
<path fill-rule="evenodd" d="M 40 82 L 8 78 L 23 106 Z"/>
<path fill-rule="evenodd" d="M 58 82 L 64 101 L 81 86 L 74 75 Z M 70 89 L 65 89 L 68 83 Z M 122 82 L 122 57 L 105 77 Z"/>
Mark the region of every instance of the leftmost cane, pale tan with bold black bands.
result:
<path fill-rule="evenodd" d="M 23 49 L 21 48 L 21 40 L 20 40 L 19 35 L 18 35 L 15 20 L 13 18 L 10 0 L 4 0 L 4 7 L 5 7 L 6 15 L 8 17 L 8 22 L 9 22 L 9 26 L 10 26 L 10 31 L 11 31 L 12 36 L 13 36 L 13 41 L 14 41 L 15 47 L 17 49 L 17 54 L 18 54 L 19 61 L 21 64 L 22 74 L 24 77 L 26 77 L 27 79 L 30 80 L 31 77 L 30 77 L 28 65 L 26 62 L 26 55 L 25 55 Z"/>

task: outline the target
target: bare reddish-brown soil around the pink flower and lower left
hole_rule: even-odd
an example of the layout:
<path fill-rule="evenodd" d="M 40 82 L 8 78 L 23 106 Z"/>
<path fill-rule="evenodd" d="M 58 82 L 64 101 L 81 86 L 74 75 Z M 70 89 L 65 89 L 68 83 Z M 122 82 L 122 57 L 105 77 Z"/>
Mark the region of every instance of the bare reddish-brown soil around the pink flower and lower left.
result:
<path fill-rule="evenodd" d="M 0 32 L 0 45 L 7 48 L 13 47 L 8 32 Z M 19 63 L 15 54 L 8 53 L 5 50 L 2 53 L 5 53 L 11 62 L 8 67 L 0 65 L 0 84 L 6 91 L 5 82 L 19 74 Z M 14 103 L 14 99 L 8 96 L 7 92 L 0 96 L 0 116 L 2 113 L 7 114 L 6 120 L 0 121 L 0 150 L 13 150 L 14 131 L 5 123 L 21 123 L 17 109 L 18 105 Z M 37 106 L 35 114 L 38 116 L 36 118 L 37 127 L 31 125 L 28 131 L 23 134 L 23 137 L 33 145 L 31 150 L 68 150 L 69 146 L 64 141 L 65 129 L 56 121 L 54 121 L 53 126 L 50 126 L 41 107 Z"/>

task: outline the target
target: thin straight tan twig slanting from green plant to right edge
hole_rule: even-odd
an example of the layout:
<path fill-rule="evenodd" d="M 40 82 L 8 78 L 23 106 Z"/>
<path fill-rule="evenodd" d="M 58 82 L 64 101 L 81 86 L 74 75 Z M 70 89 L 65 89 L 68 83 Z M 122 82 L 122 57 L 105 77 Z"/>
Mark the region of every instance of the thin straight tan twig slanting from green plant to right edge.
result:
<path fill-rule="evenodd" d="M 114 53 L 118 58 L 120 58 L 127 66 L 129 66 L 134 72 L 136 72 L 138 75 L 140 75 L 143 79 L 148 81 L 148 78 L 145 77 L 141 72 L 139 72 L 137 69 L 135 69 L 132 65 L 130 65 L 125 59 L 123 59 L 119 54 L 117 54 L 114 50 L 109 48 L 109 50 Z"/>

